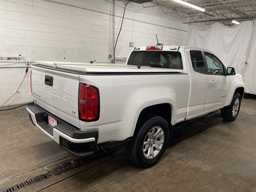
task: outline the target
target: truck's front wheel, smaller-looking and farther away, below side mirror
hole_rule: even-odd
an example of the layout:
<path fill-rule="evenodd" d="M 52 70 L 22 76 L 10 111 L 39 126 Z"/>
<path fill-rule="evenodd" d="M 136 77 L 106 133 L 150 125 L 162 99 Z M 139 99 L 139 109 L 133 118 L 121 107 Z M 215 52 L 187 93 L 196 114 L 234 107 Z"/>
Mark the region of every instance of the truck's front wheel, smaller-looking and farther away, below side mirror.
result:
<path fill-rule="evenodd" d="M 241 96 L 239 93 L 235 93 L 230 106 L 224 107 L 221 111 L 221 117 L 227 121 L 234 121 L 238 116 L 241 106 Z M 234 110 L 234 111 L 233 111 Z"/>

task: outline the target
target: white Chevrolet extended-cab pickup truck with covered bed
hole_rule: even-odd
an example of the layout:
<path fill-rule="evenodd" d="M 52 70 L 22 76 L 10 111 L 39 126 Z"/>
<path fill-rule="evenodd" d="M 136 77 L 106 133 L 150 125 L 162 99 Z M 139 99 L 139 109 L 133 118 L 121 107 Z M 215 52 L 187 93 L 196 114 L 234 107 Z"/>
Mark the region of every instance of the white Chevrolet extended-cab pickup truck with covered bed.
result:
<path fill-rule="evenodd" d="M 125 65 L 36 63 L 27 106 L 35 126 L 78 156 L 125 141 L 141 167 L 158 162 L 172 126 L 215 110 L 233 121 L 244 95 L 242 76 L 199 48 L 135 47 Z"/>

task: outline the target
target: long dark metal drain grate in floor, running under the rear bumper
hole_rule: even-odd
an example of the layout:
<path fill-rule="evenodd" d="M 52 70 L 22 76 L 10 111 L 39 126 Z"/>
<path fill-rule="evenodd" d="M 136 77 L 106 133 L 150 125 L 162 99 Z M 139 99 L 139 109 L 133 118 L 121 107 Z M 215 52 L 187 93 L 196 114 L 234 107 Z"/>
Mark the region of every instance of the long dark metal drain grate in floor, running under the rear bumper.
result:
<path fill-rule="evenodd" d="M 15 184 L 13 186 L 8 187 L 8 188 L 2 189 L 2 190 L 0 190 L 0 192 L 16 192 L 16 191 L 20 190 L 21 188 L 25 188 L 26 186 L 30 186 L 30 185 L 38 183 L 42 180 L 48 179 L 48 178 L 50 178 L 54 175 L 60 174 L 62 172 L 65 172 L 65 171 L 68 171 L 68 170 L 71 170 L 71 169 L 74 169 L 74 168 L 84 164 L 85 162 L 94 160 L 96 158 L 105 156 L 107 154 L 111 154 L 111 153 L 113 153 L 113 152 L 115 152 L 115 151 L 117 151 L 117 150 L 119 150 L 123 147 L 124 147 L 124 143 L 120 143 L 120 144 L 112 146 L 108 149 L 100 150 L 98 153 L 96 153 L 92 156 L 88 156 L 88 157 L 85 157 L 85 158 L 79 158 L 75 161 L 68 162 L 68 163 L 60 166 L 60 168 L 52 170 L 51 172 L 44 173 L 42 175 L 30 178 L 28 180 L 25 180 L 23 182 L 20 182 L 18 184 Z"/>

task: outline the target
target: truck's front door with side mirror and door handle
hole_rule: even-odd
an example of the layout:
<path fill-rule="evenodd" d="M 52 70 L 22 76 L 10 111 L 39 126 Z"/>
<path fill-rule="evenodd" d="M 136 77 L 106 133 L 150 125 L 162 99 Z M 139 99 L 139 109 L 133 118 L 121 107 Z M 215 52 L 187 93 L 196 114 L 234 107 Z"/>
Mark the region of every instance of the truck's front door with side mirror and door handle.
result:
<path fill-rule="evenodd" d="M 204 59 L 207 67 L 208 90 L 203 112 L 207 112 L 225 105 L 230 79 L 226 76 L 225 66 L 214 54 L 204 52 Z"/>

